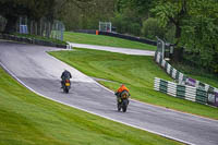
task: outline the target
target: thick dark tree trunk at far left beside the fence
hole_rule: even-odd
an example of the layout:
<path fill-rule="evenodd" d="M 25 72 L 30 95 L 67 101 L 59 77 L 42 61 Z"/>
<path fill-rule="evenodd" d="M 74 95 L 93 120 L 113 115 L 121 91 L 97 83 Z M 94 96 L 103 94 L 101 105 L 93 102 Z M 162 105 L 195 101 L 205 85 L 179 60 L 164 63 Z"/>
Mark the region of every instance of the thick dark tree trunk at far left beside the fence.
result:
<path fill-rule="evenodd" d="M 7 22 L 7 25 L 5 25 L 5 28 L 4 28 L 4 33 L 7 33 L 7 34 L 15 33 L 16 32 L 17 17 L 7 15 L 5 19 L 7 19 L 8 22 Z"/>

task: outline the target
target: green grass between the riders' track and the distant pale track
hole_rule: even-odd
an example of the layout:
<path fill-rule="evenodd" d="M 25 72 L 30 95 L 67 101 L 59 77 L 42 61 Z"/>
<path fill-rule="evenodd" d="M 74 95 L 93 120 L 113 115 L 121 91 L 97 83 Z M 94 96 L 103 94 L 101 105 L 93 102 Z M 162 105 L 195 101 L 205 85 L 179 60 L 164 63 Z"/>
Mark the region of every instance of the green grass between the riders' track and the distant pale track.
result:
<path fill-rule="evenodd" d="M 153 57 L 75 49 L 74 51 L 50 52 L 83 73 L 111 82 L 100 82 L 116 90 L 121 83 L 130 88 L 132 98 L 179 111 L 218 119 L 218 109 L 174 98 L 154 90 L 154 77 L 172 81 L 153 60 Z"/>

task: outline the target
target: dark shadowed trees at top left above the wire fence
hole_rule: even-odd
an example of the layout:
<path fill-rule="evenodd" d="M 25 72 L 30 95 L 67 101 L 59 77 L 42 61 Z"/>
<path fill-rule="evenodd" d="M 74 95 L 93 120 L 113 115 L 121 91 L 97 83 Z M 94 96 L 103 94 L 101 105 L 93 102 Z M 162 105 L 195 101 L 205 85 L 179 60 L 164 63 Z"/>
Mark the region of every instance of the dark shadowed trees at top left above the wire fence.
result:
<path fill-rule="evenodd" d="M 93 0 L 1 0 L 0 15 L 8 20 L 4 32 L 13 33 L 20 16 L 27 16 L 36 22 L 46 17 L 52 22 L 62 16 L 62 11 L 69 3 L 81 7 L 89 4 L 90 1 Z"/>

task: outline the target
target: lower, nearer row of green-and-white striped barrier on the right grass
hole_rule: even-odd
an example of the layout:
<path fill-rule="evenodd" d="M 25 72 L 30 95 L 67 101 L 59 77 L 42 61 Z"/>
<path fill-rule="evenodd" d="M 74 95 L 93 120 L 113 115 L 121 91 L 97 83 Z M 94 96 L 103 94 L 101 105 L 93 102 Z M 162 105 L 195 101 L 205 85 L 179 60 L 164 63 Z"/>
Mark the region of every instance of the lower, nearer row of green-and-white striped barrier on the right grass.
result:
<path fill-rule="evenodd" d="M 218 102 L 216 102 L 218 101 L 218 94 L 216 100 L 216 95 L 213 96 L 213 94 L 207 94 L 205 89 L 199 89 L 197 87 L 180 85 L 173 82 L 155 77 L 154 89 L 178 98 L 196 101 L 204 105 L 209 104 L 210 101 L 213 105 L 216 106 L 217 104 L 218 106 Z"/>

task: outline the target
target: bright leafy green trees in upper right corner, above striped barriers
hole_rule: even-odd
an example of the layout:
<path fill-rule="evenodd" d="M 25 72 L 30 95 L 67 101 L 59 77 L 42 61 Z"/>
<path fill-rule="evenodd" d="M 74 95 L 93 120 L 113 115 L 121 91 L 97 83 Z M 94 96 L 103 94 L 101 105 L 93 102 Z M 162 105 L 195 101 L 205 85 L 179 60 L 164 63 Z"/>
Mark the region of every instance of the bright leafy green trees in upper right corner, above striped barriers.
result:
<path fill-rule="evenodd" d="M 152 10 L 160 24 L 175 26 L 175 45 L 190 62 L 218 72 L 218 1 L 160 0 Z"/>

